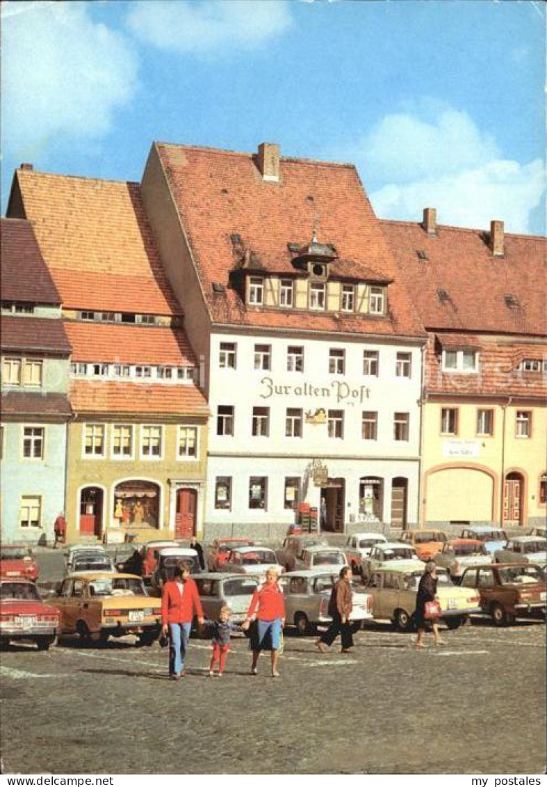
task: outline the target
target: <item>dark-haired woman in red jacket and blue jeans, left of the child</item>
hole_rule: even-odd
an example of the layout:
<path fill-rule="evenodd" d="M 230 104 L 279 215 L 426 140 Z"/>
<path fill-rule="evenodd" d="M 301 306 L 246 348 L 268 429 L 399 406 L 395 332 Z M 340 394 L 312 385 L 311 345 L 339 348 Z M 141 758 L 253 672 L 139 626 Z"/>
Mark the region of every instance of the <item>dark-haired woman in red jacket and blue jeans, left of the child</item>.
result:
<path fill-rule="evenodd" d="M 169 675 L 174 681 L 184 675 L 184 660 L 194 613 L 202 626 L 204 611 L 196 582 L 190 579 L 186 566 L 177 566 L 174 578 L 166 582 L 161 591 L 161 630 L 163 634 L 169 631 Z"/>

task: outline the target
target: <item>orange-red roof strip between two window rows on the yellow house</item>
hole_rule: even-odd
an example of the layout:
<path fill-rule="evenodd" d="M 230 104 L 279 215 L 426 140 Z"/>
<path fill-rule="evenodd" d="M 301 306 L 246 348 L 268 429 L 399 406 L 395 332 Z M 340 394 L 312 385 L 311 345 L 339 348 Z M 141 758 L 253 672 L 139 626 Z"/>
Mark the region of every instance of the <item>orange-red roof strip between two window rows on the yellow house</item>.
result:
<path fill-rule="evenodd" d="M 79 323 L 65 320 L 72 360 L 120 364 L 195 366 L 184 331 L 149 325 Z"/>

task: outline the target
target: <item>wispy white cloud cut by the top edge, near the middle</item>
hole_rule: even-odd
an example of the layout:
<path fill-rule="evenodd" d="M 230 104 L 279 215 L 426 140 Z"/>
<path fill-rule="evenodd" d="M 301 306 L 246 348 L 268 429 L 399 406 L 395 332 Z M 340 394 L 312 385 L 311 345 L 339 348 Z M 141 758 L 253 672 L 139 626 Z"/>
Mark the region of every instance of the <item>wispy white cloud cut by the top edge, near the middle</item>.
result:
<path fill-rule="evenodd" d="M 131 6 L 127 22 L 134 34 L 162 49 L 211 53 L 251 49 L 290 27 L 283 0 L 155 0 Z"/>

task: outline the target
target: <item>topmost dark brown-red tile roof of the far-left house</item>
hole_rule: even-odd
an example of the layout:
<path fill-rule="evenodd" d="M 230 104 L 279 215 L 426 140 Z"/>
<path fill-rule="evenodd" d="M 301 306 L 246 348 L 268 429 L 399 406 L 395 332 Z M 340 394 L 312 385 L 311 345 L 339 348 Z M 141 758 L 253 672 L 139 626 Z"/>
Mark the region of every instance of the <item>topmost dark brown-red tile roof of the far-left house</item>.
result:
<path fill-rule="evenodd" d="M 2 219 L 2 301 L 59 305 L 61 297 L 43 260 L 32 225 Z"/>

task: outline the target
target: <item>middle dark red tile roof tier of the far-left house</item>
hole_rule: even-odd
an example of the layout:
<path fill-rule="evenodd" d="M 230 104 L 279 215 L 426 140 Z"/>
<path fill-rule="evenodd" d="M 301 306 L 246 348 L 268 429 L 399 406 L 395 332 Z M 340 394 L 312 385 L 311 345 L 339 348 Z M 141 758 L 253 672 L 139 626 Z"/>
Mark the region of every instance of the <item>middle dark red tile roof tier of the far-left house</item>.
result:
<path fill-rule="evenodd" d="M 63 320 L 32 316 L 2 316 L 0 345 L 3 350 L 31 351 L 68 356 L 71 345 Z"/>

